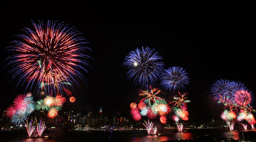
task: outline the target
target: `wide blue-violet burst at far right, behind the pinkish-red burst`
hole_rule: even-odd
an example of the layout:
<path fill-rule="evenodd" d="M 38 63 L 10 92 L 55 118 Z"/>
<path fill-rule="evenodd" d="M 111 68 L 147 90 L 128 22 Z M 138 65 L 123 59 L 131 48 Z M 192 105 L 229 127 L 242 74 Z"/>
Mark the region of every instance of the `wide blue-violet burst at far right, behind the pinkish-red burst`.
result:
<path fill-rule="evenodd" d="M 211 95 L 218 103 L 228 103 L 234 101 L 237 90 L 246 90 L 246 87 L 242 82 L 220 79 L 213 83 Z"/>

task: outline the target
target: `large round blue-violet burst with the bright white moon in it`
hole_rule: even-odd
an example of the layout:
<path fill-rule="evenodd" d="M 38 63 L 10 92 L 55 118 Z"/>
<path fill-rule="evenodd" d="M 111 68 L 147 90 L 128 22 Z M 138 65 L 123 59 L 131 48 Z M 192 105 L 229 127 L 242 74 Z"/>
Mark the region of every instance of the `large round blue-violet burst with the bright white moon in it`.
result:
<path fill-rule="evenodd" d="M 148 85 L 157 81 L 163 70 L 162 57 L 155 49 L 137 48 L 131 51 L 124 59 L 124 66 L 128 66 L 128 79 L 134 78 L 134 84 Z"/>

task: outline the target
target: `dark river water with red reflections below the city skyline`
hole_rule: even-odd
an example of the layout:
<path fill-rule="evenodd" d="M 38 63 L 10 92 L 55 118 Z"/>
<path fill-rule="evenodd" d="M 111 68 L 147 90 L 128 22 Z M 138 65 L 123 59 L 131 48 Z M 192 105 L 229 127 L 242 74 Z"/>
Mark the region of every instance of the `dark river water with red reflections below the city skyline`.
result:
<path fill-rule="evenodd" d="M 161 132 L 161 131 L 159 131 Z M 232 139 L 239 139 L 238 132 L 228 132 L 222 130 L 209 130 L 209 129 L 196 129 L 190 130 L 190 132 L 176 132 L 174 130 L 164 130 L 166 135 L 164 136 L 148 136 L 145 130 L 137 131 L 125 131 L 125 132 L 108 132 L 108 131 L 92 131 L 92 132 L 63 132 L 54 131 L 45 133 L 44 136 L 52 136 L 55 134 L 56 138 L 25 138 L 26 132 L 0 132 L 0 136 L 3 141 L 6 142 L 63 142 L 63 141 L 109 141 L 109 142 L 158 142 L 166 140 L 180 140 L 180 139 L 192 139 L 195 140 L 197 137 L 209 137 L 219 138 L 227 137 Z M 35 132 L 36 133 L 36 132 Z M 208 135 L 208 136 L 207 136 Z M 32 135 L 33 136 L 33 135 Z M 133 137 L 135 139 L 133 139 Z"/>

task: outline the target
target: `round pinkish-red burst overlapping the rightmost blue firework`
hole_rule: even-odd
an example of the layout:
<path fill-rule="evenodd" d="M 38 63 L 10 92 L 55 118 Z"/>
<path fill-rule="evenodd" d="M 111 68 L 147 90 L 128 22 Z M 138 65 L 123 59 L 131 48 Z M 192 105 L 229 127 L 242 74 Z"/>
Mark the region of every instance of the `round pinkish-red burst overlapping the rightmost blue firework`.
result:
<path fill-rule="evenodd" d="M 247 90 L 238 90 L 234 94 L 235 102 L 240 106 L 247 106 L 252 102 L 252 93 Z"/>

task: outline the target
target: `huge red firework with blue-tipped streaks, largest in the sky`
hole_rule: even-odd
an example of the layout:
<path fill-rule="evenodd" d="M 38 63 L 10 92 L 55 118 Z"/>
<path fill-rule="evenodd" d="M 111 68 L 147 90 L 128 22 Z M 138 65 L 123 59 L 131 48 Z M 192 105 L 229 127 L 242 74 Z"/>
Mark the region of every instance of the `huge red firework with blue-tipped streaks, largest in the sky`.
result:
<path fill-rule="evenodd" d="M 80 71 L 87 72 L 84 67 L 89 66 L 86 60 L 91 57 L 85 53 L 91 49 L 79 36 L 81 33 L 53 21 L 46 24 L 33 22 L 33 26 L 34 30 L 25 28 L 25 34 L 18 35 L 20 39 L 6 48 L 12 54 L 7 58 L 11 80 L 18 77 L 17 86 L 27 81 L 26 89 L 31 86 L 30 90 L 32 86 L 39 89 L 43 84 L 41 89 L 60 92 L 70 84 L 79 84 L 80 79 L 86 81 Z"/>

